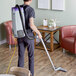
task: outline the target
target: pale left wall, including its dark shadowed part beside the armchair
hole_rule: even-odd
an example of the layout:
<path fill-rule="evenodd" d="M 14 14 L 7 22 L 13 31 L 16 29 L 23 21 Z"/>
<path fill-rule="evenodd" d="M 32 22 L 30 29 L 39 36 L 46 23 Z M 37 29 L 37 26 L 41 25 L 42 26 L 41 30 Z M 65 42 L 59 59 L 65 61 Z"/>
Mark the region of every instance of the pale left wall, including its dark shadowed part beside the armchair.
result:
<path fill-rule="evenodd" d="M 6 31 L 2 23 L 11 20 L 11 7 L 15 4 L 16 0 L 0 0 L 0 44 L 6 39 Z"/>

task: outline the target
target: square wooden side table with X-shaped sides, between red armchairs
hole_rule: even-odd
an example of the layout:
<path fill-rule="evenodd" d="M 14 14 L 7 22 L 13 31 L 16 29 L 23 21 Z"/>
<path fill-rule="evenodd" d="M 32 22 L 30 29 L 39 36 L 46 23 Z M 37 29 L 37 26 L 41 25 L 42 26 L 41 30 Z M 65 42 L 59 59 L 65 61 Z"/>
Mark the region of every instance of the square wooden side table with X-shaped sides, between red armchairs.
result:
<path fill-rule="evenodd" d="M 43 40 L 44 40 L 44 42 L 45 42 L 45 44 L 46 44 L 46 42 L 47 42 L 47 40 L 48 39 L 50 39 L 50 49 L 49 48 L 47 48 L 48 50 L 50 50 L 50 51 L 53 51 L 54 50 L 54 44 L 53 44 L 53 40 L 55 39 L 54 38 L 54 34 L 57 32 L 57 31 L 59 31 L 59 27 L 56 27 L 56 28 L 54 28 L 54 27 L 48 27 L 48 26 L 42 26 L 42 25 L 40 25 L 40 26 L 38 26 L 37 27 L 38 28 L 38 30 L 42 33 L 42 37 L 43 37 Z M 45 33 L 47 33 L 47 35 L 45 36 Z M 50 35 L 50 36 L 49 36 Z M 49 36 L 49 38 L 47 38 Z M 47 38 L 47 39 L 46 39 Z M 46 40 L 45 40 L 46 39 Z M 56 39 L 55 39 L 56 40 Z M 56 40 L 57 41 L 57 40 Z M 40 43 L 40 42 L 39 42 Z M 36 39 L 35 39 L 35 48 L 38 48 L 38 49 L 44 49 L 43 47 L 39 47 L 39 46 L 37 46 L 37 45 L 39 45 L 39 43 L 37 43 L 36 44 Z M 59 43 L 58 41 L 57 41 L 57 43 Z M 41 46 L 41 45 L 40 45 Z"/>

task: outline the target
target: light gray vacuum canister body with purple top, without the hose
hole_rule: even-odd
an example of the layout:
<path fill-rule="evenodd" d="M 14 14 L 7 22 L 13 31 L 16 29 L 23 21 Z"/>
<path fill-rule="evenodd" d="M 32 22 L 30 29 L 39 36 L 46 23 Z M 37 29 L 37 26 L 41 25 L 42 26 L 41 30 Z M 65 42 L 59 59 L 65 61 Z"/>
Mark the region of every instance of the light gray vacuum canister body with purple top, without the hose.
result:
<path fill-rule="evenodd" d="M 21 9 L 21 13 L 23 16 L 23 22 L 25 24 L 24 10 L 22 7 L 20 7 L 20 9 Z M 12 31 L 13 31 L 14 37 L 16 37 L 16 38 L 21 38 L 21 37 L 25 36 L 23 27 L 22 27 L 19 10 L 17 7 L 12 8 Z"/>

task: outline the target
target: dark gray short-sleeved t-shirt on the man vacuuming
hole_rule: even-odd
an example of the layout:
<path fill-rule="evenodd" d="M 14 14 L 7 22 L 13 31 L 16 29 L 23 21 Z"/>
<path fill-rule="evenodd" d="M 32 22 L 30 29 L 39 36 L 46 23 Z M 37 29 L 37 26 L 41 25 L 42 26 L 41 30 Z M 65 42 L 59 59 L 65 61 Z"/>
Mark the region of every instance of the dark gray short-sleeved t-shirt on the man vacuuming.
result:
<path fill-rule="evenodd" d="M 25 26 L 26 26 L 26 29 L 27 30 L 32 30 L 31 28 L 30 28 L 30 22 L 29 22 L 29 20 L 30 20 L 30 18 L 31 17 L 33 17 L 33 18 L 35 18 L 35 12 L 34 12 L 34 9 L 31 7 L 31 6 L 29 6 L 29 5 L 21 5 L 21 6 L 23 6 L 23 7 L 26 7 L 24 10 L 26 11 L 26 16 L 25 16 L 25 19 L 26 19 L 26 24 L 25 24 Z"/>

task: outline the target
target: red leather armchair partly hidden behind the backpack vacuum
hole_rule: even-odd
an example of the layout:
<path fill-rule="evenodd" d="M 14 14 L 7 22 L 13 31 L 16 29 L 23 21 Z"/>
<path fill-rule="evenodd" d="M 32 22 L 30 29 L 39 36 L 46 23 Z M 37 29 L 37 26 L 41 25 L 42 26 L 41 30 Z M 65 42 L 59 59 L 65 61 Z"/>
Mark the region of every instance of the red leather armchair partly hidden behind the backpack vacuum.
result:
<path fill-rule="evenodd" d="M 12 33 L 12 21 L 11 20 L 7 21 L 4 23 L 4 25 L 5 25 L 5 29 L 6 29 L 7 43 L 10 45 L 17 44 L 17 40 L 15 42 L 16 38 L 14 38 L 14 35 Z"/>

